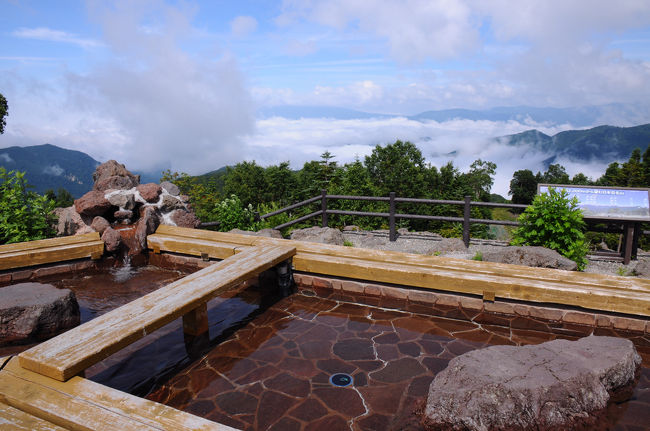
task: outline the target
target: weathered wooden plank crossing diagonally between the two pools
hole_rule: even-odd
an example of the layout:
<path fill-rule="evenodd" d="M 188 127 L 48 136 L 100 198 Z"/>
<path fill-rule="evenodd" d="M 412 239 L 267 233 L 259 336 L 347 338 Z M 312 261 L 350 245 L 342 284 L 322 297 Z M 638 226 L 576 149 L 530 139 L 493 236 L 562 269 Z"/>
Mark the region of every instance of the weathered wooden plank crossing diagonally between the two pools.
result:
<path fill-rule="evenodd" d="M 67 380 L 294 254 L 295 249 L 286 246 L 244 250 L 26 350 L 18 356 L 20 364 Z"/>

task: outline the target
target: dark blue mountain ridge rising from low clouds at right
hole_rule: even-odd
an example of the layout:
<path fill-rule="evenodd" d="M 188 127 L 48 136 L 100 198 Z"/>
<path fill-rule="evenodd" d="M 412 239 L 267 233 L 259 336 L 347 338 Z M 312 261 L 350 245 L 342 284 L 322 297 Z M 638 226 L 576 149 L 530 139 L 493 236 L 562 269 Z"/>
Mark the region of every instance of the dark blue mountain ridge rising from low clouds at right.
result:
<path fill-rule="evenodd" d="M 538 130 L 495 138 L 499 142 L 528 146 L 549 153 L 552 159 L 576 161 L 627 159 L 635 148 L 650 145 L 650 124 L 635 127 L 598 126 L 587 130 L 567 130 L 548 136 Z M 553 163 L 553 161 L 550 161 Z"/>

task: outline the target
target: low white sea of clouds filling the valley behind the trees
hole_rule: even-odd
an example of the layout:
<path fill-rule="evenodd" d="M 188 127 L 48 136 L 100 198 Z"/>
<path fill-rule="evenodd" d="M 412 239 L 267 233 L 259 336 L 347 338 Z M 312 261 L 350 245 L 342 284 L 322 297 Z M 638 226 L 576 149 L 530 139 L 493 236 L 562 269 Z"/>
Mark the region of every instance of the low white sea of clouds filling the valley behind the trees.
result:
<path fill-rule="evenodd" d="M 259 120 L 254 134 L 244 140 L 242 156 L 262 165 L 290 160 L 293 168 L 300 168 L 310 160 L 317 160 L 329 151 L 339 163 L 363 160 L 376 145 L 393 143 L 400 139 L 411 141 L 420 148 L 425 158 L 440 167 L 448 161 L 463 171 L 476 159 L 497 164 L 493 192 L 507 196 L 514 171 L 530 169 L 543 171 L 549 154 L 528 147 L 512 147 L 492 140 L 497 136 L 538 129 L 554 135 L 570 128 L 568 125 L 547 126 L 530 121 L 472 121 L 419 122 L 403 117 L 390 119 L 331 120 L 269 118 Z M 453 154 L 452 154 L 453 153 Z M 566 163 L 572 175 L 583 172 L 598 177 L 605 163 Z"/>

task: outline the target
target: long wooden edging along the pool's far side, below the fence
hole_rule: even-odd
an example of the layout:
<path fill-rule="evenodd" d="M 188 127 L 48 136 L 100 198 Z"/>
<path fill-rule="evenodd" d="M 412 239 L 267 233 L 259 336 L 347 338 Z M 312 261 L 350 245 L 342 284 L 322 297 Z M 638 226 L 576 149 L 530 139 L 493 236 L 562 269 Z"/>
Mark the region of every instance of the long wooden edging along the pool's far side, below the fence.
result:
<path fill-rule="evenodd" d="M 211 255 L 210 244 L 246 248 L 286 244 L 296 248 L 294 269 L 483 298 L 551 303 L 650 316 L 650 280 L 549 268 L 371 250 L 161 225 L 147 238 L 157 252 Z M 203 247 L 203 248 L 202 248 Z M 217 247 L 215 245 L 214 247 Z M 203 250 L 203 251 L 202 251 Z"/>

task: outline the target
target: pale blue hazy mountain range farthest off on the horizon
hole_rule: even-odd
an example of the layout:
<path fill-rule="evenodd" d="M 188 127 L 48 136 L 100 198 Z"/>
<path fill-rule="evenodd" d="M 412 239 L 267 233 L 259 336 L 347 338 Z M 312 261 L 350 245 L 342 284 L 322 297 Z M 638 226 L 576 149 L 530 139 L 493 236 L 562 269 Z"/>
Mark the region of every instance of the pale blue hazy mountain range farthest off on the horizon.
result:
<path fill-rule="evenodd" d="M 590 127 L 605 122 L 609 124 L 629 125 L 645 123 L 650 120 L 650 112 L 648 112 L 647 108 L 617 103 L 574 108 L 510 106 L 483 110 L 442 109 L 436 111 L 425 111 L 416 115 L 378 114 L 331 106 L 284 105 L 261 108 L 258 110 L 257 116 L 262 119 L 283 117 L 293 120 L 300 118 L 354 120 L 405 117 L 414 121 L 437 122 L 452 120 L 529 121 L 540 124 L 570 124 L 573 127 Z"/>

